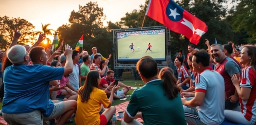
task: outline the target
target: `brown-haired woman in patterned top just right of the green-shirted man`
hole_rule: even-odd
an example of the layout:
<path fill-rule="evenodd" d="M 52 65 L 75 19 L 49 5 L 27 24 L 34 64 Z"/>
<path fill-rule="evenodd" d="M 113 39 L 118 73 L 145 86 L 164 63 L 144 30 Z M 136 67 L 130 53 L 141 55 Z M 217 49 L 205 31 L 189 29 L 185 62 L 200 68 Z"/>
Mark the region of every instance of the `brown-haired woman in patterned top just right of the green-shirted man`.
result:
<path fill-rule="evenodd" d="M 105 63 L 104 63 L 105 66 L 102 68 L 102 70 L 99 68 L 100 67 L 100 62 L 101 62 L 101 55 L 95 54 L 93 56 L 93 60 L 92 60 L 93 64 L 91 64 L 90 70 L 97 70 L 98 73 L 100 74 L 100 76 L 103 76 L 105 71 L 106 71 L 106 68 L 108 66 L 109 60 L 105 61 Z"/>

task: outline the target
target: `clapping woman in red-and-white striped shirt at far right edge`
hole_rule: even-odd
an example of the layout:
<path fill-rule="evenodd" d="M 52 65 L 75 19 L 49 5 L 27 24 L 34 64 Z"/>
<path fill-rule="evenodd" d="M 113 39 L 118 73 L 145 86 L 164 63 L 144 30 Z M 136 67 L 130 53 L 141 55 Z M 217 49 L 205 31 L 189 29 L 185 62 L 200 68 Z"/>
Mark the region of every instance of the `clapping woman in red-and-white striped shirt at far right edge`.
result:
<path fill-rule="evenodd" d="M 238 106 L 232 110 L 225 110 L 227 120 L 244 125 L 256 123 L 256 46 L 244 45 L 241 50 L 240 63 L 244 65 L 241 78 L 233 75 L 231 80 L 239 95 Z"/>

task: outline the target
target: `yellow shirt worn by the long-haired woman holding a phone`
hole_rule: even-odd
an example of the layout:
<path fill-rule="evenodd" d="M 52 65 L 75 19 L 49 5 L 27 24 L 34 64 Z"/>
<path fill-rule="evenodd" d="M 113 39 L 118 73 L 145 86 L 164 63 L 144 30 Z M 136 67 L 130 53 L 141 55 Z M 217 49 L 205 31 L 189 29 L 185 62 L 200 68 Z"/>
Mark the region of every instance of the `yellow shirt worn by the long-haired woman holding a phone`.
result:
<path fill-rule="evenodd" d="M 105 108 L 110 105 L 105 91 L 93 88 L 88 102 L 81 102 L 81 96 L 78 94 L 77 110 L 75 114 L 76 125 L 99 125 L 99 112 L 101 104 Z"/>

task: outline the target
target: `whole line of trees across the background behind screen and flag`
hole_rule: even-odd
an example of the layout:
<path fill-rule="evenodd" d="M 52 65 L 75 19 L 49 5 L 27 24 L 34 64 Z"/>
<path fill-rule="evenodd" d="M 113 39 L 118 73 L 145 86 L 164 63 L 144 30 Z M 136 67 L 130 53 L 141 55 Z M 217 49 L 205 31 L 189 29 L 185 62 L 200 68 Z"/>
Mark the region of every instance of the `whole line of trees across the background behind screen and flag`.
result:
<path fill-rule="evenodd" d="M 231 9 L 223 6 L 223 3 L 234 3 Z M 215 38 L 219 44 L 227 44 L 232 41 L 237 45 L 256 43 L 256 0 L 176 0 L 180 6 L 189 11 L 197 18 L 205 22 L 208 31 L 201 37 L 197 48 L 206 48 L 205 39 L 214 43 Z M 79 5 L 78 11 L 71 11 L 69 23 L 62 24 L 56 31 L 59 41 L 64 40 L 65 44 L 75 46 L 84 34 L 84 49 L 91 53 L 90 49 L 96 46 L 103 56 L 111 53 L 113 43 L 113 29 L 141 27 L 145 16 L 148 0 L 140 5 L 140 10 L 126 12 L 119 22 L 107 22 L 103 26 L 106 15 L 103 8 L 98 7 L 97 2 L 88 2 L 84 6 Z M 162 25 L 149 17 L 145 18 L 144 27 Z M 33 32 L 35 26 L 25 19 L 0 17 L 0 48 L 6 49 L 13 39 L 15 27 L 19 27 L 22 36 L 18 44 L 33 43 L 39 33 L 51 33 L 47 27 L 49 24 L 42 24 L 42 31 Z M 50 40 L 47 40 L 47 47 Z M 179 50 L 187 53 L 189 40 L 181 34 L 171 32 L 171 54 Z M 182 46 L 182 47 L 180 47 Z"/>

